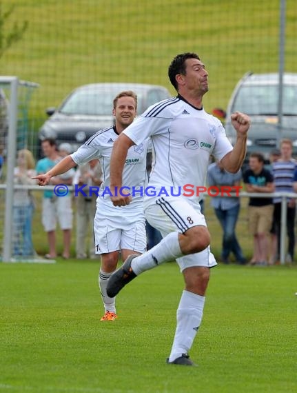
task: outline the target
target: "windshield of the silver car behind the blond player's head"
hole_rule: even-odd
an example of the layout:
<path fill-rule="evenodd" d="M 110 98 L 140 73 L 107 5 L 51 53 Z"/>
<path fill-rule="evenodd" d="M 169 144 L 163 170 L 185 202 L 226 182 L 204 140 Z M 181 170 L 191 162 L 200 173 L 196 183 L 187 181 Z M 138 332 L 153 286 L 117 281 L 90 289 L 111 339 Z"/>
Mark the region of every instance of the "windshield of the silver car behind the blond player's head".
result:
<path fill-rule="evenodd" d="M 78 90 L 63 103 L 59 112 L 64 114 L 111 115 L 112 101 L 119 91 Z M 137 94 L 141 107 L 141 95 Z"/>

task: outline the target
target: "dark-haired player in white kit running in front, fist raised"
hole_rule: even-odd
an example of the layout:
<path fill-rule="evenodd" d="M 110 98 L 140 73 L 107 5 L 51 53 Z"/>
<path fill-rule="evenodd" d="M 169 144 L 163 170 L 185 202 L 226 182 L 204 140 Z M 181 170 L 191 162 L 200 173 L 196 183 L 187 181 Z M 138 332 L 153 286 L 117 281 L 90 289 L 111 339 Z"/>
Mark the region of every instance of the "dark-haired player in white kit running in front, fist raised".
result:
<path fill-rule="evenodd" d="M 156 196 L 145 196 L 145 217 L 161 231 L 163 240 L 141 256 L 129 256 L 110 277 L 107 294 L 115 296 L 142 272 L 176 259 L 185 279 L 185 290 L 178 305 L 176 332 L 167 363 L 194 365 L 188 351 L 201 325 L 209 268 L 216 265 L 195 190 L 196 186 L 205 185 L 210 154 L 227 171 L 239 170 L 245 157 L 249 117 L 240 112 L 232 114 L 237 132 L 232 148 L 221 121 L 203 109 L 208 74 L 198 55 L 178 54 L 168 74 L 177 97 L 152 105 L 136 119 L 114 143 L 110 164 L 110 184 L 112 188 L 121 187 L 127 150 L 151 137 L 154 161 L 149 186 L 156 189 Z M 187 190 L 189 185 L 195 186 L 194 195 L 185 192 L 185 185 Z M 131 197 L 113 196 L 112 201 L 114 205 L 125 205 L 131 202 Z"/>

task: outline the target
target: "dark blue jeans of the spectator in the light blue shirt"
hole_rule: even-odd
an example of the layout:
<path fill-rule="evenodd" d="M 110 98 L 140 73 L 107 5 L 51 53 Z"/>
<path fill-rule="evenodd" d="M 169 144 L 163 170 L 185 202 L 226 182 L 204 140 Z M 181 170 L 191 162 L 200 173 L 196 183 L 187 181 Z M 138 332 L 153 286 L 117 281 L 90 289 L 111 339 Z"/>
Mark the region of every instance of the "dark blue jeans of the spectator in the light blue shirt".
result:
<path fill-rule="evenodd" d="M 222 258 L 227 261 L 230 252 L 233 252 L 236 261 L 244 262 L 245 257 L 236 239 L 235 227 L 238 219 L 240 205 L 234 206 L 229 210 L 214 209 L 218 221 L 223 229 Z"/>

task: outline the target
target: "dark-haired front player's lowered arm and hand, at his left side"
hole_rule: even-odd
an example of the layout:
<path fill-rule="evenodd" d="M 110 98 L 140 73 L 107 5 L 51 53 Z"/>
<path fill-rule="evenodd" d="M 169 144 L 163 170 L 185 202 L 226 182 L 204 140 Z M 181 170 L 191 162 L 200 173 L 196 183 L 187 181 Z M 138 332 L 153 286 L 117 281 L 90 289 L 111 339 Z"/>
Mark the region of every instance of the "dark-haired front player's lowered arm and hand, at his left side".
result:
<path fill-rule="evenodd" d="M 114 206 L 129 205 L 131 201 L 131 196 L 122 196 L 119 192 L 117 193 L 118 195 L 115 196 L 115 190 L 119 190 L 122 186 L 125 159 L 127 157 L 128 149 L 132 145 L 134 145 L 134 142 L 125 134 L 121 134 L 114 142 L 114 147 L 112 148 L 112 157 L 110 160 L 110 191 L 114 196 L 111 196 L 110 199 Z"/>

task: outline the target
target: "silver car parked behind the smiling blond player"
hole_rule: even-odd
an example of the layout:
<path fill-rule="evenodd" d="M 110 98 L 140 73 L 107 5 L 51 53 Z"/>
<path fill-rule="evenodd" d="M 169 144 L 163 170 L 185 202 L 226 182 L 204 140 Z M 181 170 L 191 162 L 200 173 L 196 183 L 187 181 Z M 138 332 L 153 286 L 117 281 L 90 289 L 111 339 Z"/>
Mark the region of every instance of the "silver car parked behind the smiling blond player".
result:
<path fill-rule="evenodd" d="M 54 138 L 57 145 L 68 142 L 77 150 L 94 132 L 113 124 L 112 101 L 123 90 L 133 90 L 138 97 L 137 112 L 143 113 L 150 105 L 171 97 L 159 85 L 141 83 L 94 83 L 71 92 L 59 108 L 48 108 L 50 119 L 39 131 L 39 139 Z"/>

